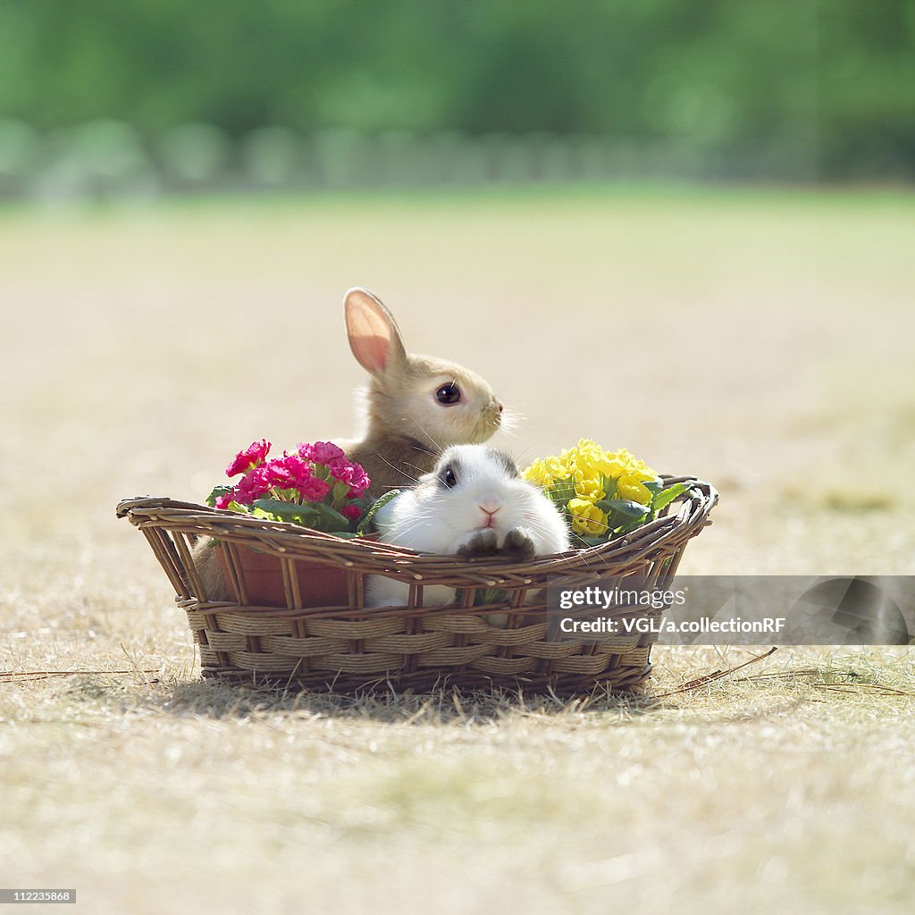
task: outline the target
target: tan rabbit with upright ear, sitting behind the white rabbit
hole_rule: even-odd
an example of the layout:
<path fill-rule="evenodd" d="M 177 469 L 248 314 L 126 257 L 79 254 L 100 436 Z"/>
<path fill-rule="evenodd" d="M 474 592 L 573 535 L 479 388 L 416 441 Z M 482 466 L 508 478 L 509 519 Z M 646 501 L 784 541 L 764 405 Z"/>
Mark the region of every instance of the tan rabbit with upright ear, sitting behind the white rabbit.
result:
<path fill-rule="evenodd" d="M 339 446 L 365 468 L 372 498 L 432 470 L 444 448 L 485 442 L 499 429 L 503 407 L 490 385 L 454 362 L 408 353 L 371 292 L 350 289 L 344 310 L 350 349 L 371 379 L 361 392 L 361 437 Z"/>

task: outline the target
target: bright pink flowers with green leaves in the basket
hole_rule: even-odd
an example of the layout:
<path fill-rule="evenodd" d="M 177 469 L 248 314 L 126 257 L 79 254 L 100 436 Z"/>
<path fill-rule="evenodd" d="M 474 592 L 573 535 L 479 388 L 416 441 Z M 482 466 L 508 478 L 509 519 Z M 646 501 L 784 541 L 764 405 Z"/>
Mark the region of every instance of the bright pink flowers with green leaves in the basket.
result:
<path fill-rule="evenodd" d="M 332 442 L 299 445 L 281 458 L 267 459 L 265 438 L 240 451 L 226 476 L 242 476 L 234 486 L 218 486 L 208 502 L 273 521 L 291 521 L 320 531 L 353 533 L 367 507 L 371 480 Z"/>

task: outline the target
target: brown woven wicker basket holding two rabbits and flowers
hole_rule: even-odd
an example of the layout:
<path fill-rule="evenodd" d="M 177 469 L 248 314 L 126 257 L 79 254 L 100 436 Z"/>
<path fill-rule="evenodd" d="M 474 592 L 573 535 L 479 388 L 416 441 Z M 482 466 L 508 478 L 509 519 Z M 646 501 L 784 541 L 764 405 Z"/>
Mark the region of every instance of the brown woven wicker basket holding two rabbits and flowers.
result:
<path fill-rule="evenodd" d="M 545 592 L 539 597 L 532 592 L 554 576 L 596 568 L 601 579 L 638 575 L 649 587 L 666 589 L 687 542 L 710 523 L 718 497 L 699 479 L 665 480 L 686 482 L 689 489 L 662 517 L 609 544 L 523 563 L 416 554 L 170 499 L 126 500 L 117 513 L 144 533 L 165 569 L 178 606 L 188 613 L 204 676 L 347 691 L 450 684 L 557 693 L 601 685 L 637 692 L 651 673 L 656 634 L 633 633 L 601 644 L 551 640 Z M 201 536 L 216 538 L 227 551 L 234 570 L 231 601 L 210 600 L 206 594 L 191 553 Z M 284 606 L 253 606 L 249 600 L 238 562 L 239 546 L 245 544 L 278 557 Z M 303 563 L 342 570 L 346 598 L 337 606 L 305 607 L 296 575 Z M 366 609 L 366 576 L 375 574 L 408 581 L 407 606 Z M 458 602 L 423 608 L 423 588 L 430 585 L 458 588 Z M 475 606 L 477 590 L 488 588 L 507 591 L 509 598 Z M 505 628 L 486 621 L 495 613 L 509 615 Z M 661 611 L 646 608 L 644 613 L 658 617 Z"/>

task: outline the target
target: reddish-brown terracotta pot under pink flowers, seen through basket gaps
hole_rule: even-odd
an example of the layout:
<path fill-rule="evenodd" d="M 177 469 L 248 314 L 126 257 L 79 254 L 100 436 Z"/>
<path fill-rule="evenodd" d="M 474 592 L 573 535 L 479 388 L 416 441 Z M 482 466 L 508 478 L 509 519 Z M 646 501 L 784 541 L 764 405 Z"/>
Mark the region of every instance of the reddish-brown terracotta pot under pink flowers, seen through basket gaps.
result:
<path fill-rule="evenodd" d="M 367 540 L 377 540 L 372 534 Z M 221 545 L 216 546 L 222 577 L 231 594 L 231 576 L 225 551 Z M 248 592 L 248 602 L 261 607 L 285 607 L 286 599 L 283 590 L 283 568 L 278 556 L 260 553 L 248 544 L 236 544 L 239 562 L 242 565 L 244 585 Z M 334 565 L 320 565 L 304 560 L 296 562 L 298 592 L 302 597 L 303 607 L 343 607 L 349 602 L 346 571 Z"/>

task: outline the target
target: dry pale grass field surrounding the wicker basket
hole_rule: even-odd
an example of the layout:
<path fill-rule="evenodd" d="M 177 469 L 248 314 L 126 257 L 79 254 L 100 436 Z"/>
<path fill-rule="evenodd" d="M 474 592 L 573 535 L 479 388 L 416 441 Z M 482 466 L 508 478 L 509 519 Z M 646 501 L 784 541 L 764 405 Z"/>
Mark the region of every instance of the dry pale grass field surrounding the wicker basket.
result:
<path fill-rule="evenodd" d="M 0 212 L 0 885 L 80 910 L 908 912 L 915 656 L 634 704 L 199 681 L 139 493 L 352 431 L 341 297 L 533 458 L 721 491 L 693 573 L 915 573 L 915 198 L 747 190 Z M 655 694 L 748 660 L 658 649 Z M 44 671 L 81 671 L 43 675 Z M 126 673 L 124 673 L 126 672 Z"/>

